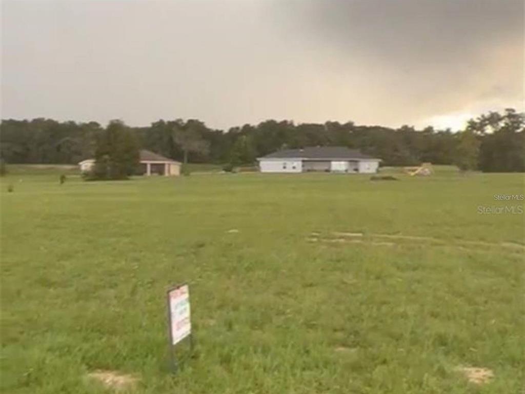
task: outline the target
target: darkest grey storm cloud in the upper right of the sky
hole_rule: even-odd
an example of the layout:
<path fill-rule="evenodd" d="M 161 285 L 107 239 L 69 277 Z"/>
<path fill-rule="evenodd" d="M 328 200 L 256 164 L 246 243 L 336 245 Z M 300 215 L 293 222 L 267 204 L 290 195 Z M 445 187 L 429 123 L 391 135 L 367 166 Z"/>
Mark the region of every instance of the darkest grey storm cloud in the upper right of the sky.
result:
<path fill-rule="evenodd" d="M 302 3 L 291 3 L 290 8 Z M 304 27 L 338 45 L 396 63 L 450 64 L 509 39 L 523 42 L 522 1 L 314 2 Z"/>

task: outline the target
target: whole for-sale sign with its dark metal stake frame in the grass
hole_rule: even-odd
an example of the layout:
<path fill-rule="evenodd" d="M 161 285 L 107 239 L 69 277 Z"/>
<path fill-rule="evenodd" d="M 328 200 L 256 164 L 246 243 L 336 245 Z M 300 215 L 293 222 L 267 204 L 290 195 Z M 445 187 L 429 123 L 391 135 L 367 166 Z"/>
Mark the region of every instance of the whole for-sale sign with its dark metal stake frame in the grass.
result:
<path fill-rule="evenodd" d="M 177 370 L 174 347 L 183 339 L 190 340 L 190 354 L 193 351 L 192 325 L 190 319 L 190 289 L 187 284 L 167 291 L 167 316 L 169 322 L 169 352 L 173 372 Z M 182 361 L 182 360 L 181 360 Z"/>

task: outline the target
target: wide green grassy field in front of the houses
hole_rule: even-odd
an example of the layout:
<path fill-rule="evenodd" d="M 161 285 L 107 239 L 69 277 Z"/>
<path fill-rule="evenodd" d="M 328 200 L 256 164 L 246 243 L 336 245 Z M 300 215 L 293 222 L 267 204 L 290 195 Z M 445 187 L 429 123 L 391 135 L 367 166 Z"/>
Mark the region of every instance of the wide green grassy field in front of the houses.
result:
<path fill-rule="evenodd" d="M 523 392 L 523 174 L 0 181 L 4 393 Z M 14 191 L 7 192 L 12 184 Z M 230 231 L 236 230 L 236 231 Z M 167 358 L 190 284 L 195 351 Z M 470 383 L 458 367 L 493 372 Z"/>

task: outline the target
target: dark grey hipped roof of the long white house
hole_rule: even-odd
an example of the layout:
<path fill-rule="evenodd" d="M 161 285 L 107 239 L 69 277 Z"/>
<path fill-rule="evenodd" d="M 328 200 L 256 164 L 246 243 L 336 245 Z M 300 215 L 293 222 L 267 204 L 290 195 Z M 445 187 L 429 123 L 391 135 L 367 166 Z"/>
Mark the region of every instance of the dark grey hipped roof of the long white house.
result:
<path fill-rule="evenodd" d="M 358 149 L 346 147 L 307 147 L 302 149 L 285 149 L 267 154 L 260 159 L 309 159 L 309 160 L 351 160 L 351 159 L 375 159 L 372 156 L 361 153 Z"/>

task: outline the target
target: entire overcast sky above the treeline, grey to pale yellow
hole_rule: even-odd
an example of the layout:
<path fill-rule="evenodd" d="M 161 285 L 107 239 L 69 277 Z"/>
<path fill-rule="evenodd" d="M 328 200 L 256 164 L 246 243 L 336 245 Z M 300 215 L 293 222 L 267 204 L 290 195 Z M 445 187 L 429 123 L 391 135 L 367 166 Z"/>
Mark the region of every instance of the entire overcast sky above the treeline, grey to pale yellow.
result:
<path fill-rule="evenodd" d="M 2 1 L 2 118 L 458 129 L 523 110 L 522 0 Z"/>

